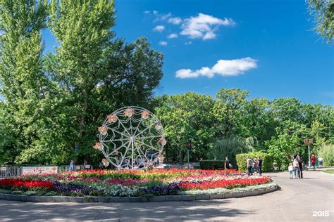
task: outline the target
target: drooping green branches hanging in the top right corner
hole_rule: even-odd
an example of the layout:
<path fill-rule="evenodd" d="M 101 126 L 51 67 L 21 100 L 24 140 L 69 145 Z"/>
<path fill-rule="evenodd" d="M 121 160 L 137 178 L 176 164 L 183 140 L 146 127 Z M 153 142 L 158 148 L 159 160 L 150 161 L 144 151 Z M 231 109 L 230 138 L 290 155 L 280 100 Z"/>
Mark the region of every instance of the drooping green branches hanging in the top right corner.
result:
<path fill-rule="evenodd" d="M 316 32 L 326 39 L 328 44 L 334 37 L 334 1 L 333 0 L 308 0 L 309 13 L 316 22 Z"/>

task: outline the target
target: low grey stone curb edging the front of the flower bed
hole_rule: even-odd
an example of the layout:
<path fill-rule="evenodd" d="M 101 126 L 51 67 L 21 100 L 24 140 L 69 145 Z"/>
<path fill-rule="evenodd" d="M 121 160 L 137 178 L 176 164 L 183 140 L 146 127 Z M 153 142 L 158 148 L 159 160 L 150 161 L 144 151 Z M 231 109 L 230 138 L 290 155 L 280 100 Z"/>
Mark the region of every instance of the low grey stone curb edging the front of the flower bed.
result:
<path fill-rule="evenodd" d="M 192 200 L 218 200 L 227 198 L 249 197 L 264 195 L 278 190 L 276 183 L 269 183 L 266 188 L 255 190 L 231 190 L 225 193 L 201 195 L 166 195 L 154 197 L 68 197 L 68 196 L 27 196 L 0 193 L 0 200 L 13 200 L 21 202 L 170 202 Z"/>

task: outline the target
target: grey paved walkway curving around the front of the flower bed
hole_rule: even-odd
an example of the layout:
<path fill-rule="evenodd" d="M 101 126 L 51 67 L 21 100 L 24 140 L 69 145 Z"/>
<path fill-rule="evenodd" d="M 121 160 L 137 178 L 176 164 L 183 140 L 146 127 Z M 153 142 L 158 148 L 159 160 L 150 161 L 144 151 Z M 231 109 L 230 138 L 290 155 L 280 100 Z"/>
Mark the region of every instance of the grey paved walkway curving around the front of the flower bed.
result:
<path fill-rule="evenodd" d="M 268 173 L 281 190 L 256 197 L 193 202 L 31 203 L 0 200 L 0 221 L 334 221 L 334 176 Z M 329 216 L 313 216 L 328 211 Z M 318 212 L 317 212 L 318 213 Z"/>

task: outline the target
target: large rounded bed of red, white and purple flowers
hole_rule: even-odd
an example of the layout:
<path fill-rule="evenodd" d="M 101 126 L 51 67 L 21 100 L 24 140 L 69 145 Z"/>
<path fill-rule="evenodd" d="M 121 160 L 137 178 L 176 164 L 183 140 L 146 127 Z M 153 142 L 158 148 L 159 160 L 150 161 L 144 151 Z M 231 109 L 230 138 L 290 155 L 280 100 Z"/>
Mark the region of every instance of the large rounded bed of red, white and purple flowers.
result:
<path fill-rule="evenodd" d="M 80 171 L 23 175 L 0 180 L 0 192 L 29 195 L 149 197 L 182 195 L 254 187 L 268 177 L 248 177 L 240 171 L 157 169 L 153 171 Z"/>

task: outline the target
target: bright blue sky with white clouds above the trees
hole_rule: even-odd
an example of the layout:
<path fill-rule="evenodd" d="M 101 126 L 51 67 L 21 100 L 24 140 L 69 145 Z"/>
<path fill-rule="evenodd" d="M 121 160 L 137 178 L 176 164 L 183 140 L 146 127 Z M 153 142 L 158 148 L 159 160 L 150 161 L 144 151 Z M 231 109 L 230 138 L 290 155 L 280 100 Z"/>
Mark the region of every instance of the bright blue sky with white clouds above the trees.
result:
<path fill-rule="evenodd" d="M 302 0 L 116 0 L 116 11 L 117 37 L 147 37 L 164 54 L 157 95 L 240 88 L 334 105 L 333 47 L 311 30 Z"/>

